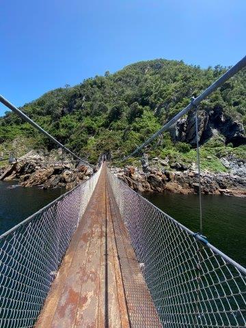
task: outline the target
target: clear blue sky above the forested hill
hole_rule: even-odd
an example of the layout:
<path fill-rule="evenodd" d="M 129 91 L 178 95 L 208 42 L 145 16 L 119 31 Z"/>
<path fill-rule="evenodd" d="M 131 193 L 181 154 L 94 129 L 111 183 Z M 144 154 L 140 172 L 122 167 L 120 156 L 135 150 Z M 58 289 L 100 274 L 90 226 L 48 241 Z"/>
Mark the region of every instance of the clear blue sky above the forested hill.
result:
<path fill-rule="evenodd" d="M 146 59 L 232 65 L 245 17 L 245 0 L 1 0 L 0 94 L 20 106 Z"/>

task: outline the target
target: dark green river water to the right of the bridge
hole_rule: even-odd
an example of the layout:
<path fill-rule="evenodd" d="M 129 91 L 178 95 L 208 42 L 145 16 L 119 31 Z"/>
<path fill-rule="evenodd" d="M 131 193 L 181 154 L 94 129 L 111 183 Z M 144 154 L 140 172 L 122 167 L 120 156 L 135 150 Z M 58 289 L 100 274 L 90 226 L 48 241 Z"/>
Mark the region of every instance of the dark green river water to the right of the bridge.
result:
<path fill-rule="evenodd" d="M 150 202 L 193 232 L 199 231 L 197 195 L 143 194 Z M 223 195 L 202 195 L 203 234 L 233 260 L 246 266 L 246 200 Z"/>

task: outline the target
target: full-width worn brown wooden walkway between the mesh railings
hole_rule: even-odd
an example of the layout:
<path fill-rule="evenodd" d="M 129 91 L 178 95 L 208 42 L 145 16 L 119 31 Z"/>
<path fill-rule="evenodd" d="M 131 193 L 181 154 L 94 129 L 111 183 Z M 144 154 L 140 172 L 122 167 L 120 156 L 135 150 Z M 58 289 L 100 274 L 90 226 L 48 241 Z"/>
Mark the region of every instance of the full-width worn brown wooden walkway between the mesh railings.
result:
<path fill-rule="evenodd" d="M 36 327 L 161 327 L 105 165 Z"/>

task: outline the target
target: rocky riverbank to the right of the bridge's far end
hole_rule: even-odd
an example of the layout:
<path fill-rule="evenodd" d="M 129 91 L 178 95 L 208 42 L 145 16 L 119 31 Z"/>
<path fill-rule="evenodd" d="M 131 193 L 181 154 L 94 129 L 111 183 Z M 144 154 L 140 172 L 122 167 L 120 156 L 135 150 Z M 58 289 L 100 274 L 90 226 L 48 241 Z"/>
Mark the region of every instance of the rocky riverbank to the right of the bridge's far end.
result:
<path fill-rule="evenodd" d="M 222 159 L 228 172 L 201 173 L 202 193 L 206 195 L 233 195 L 246 197 L 246 161 Z M 140 192 L 171 191 L 172 193 L 192 194 L 199 191 L 198 172 L 195 165 L 186 167 L 181 163 L 172 164 L 155 158 L 151 165 L 124 168 L 111 167 L 113 173 L 129 187 Z"/>

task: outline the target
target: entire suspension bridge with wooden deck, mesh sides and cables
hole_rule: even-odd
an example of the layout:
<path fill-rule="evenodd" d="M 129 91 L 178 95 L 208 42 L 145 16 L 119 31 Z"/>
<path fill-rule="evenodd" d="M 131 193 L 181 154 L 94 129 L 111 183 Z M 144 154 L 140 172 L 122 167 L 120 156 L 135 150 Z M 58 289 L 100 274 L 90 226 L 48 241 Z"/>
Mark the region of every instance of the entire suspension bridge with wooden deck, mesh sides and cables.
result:
<path fill-rule="evenodd" d="M 245 66 L 246 57 L 130 156 Z M 105 157 L 89 180 L 0 236 L 1 328 L 245 325 L 246 269 L 202 236 L 202 208 L 192 232 L 119 180 Z"/>

